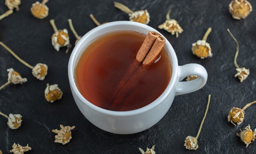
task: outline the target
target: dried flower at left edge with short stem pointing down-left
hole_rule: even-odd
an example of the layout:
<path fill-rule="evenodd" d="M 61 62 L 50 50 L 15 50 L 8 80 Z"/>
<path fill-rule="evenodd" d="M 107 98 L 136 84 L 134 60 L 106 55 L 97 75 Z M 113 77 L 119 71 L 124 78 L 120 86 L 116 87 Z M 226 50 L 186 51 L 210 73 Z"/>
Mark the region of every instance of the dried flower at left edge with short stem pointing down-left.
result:
<path fill-rule="evenodd" d="M 0 87 L 0 90 L 6 87 L 7 85 L 9 85 L 10 83 L 13 83 L 14 85 L 16 85 L 16 84 L 22 84 L 24 82 L 27 82 L 27 78 L 22 78 L 18 72 L 14 71 L 13 68 L 7 69 L 7 72 L 9 72 L 8 81 Z"/>

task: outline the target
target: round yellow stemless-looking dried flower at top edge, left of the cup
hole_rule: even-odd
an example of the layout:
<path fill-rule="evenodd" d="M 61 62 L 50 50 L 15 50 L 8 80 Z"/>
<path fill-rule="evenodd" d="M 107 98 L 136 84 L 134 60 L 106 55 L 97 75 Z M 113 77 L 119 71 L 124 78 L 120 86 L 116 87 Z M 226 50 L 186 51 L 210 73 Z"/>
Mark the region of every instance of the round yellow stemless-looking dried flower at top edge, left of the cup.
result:
<path fill-rule="evenodd" d="M 35 2 L 32 4 L 32 7 L 30 9 L 32 15 L 38 19 L 44 19 L 49 14 L 49 8 L 45 5 L 48 2 L 48 0 L 43 0 L 42 3 Z"/>

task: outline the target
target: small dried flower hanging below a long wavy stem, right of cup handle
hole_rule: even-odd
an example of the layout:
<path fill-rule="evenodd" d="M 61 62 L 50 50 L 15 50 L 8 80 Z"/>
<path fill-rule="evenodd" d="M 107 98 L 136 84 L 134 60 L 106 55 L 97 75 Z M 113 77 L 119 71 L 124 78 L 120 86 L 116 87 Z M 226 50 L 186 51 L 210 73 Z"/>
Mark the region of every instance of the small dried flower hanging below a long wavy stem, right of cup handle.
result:
<path fill-rule="evenodd" d="M 246 69 L 245 67 L 239 67 L 238 64 L 236 63 L 236 59 L 237 59 L 237 56 L 238 56 L 238 52 L 239 52 L 239 43 L 238 41 L 236 40 L 236 38 L 234 37 L 234 35 L 230 32 L 229 29 L 227 29 L 227 31 L 229 32 L 229 34 L 231 35 L 231 37 L 234 39 L 234 41 L 236 42 L 236 54 L 235 54 L 235 57 L 234 57 L 234 65 L 236 67 L 236 71 L 237 73 L 234 75 L 235 78 L 238 77 L 238 79 L 240 80 L 240 82 L 243 82 L 243 80 L 245 80 L 249 74 L 250 74 L 250 71 L 249 69 Z"/>

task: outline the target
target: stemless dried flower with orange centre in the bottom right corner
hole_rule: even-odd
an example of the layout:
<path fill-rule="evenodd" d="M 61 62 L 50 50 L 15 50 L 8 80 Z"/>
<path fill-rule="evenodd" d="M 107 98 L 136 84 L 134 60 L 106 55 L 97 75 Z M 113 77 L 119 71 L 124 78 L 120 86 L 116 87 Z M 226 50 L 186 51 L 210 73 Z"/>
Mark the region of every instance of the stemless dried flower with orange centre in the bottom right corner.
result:
<path fill-rule="evenodd" d="M 250 128 L 250 125 L 248 125 L 243 131 L 240 129 L 240 134 L 236 133 L 236 135 L 241 138 L 247 147 L 250 143 L 252 143 L 252 141 L 255 140 L 256 129 L 253 132 Z"/>

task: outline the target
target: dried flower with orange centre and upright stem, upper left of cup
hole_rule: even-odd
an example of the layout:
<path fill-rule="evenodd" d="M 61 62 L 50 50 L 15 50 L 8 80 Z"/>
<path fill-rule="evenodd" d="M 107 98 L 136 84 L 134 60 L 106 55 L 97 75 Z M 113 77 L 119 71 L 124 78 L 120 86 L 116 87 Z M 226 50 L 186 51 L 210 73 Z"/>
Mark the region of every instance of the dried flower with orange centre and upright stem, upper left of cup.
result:
<path fill-rule="evenodd" d="M 70 37 L 68 36 L 67 29 L 58 30 L 54 20 L 50 20 L 54 33 L 52 35 L 52 46 L 59 51 L 60 47 L 67 47 L 66 53 L 71 48 Z"/>

